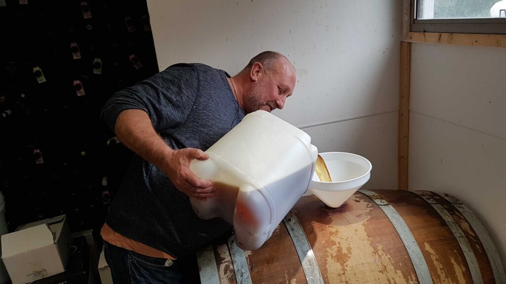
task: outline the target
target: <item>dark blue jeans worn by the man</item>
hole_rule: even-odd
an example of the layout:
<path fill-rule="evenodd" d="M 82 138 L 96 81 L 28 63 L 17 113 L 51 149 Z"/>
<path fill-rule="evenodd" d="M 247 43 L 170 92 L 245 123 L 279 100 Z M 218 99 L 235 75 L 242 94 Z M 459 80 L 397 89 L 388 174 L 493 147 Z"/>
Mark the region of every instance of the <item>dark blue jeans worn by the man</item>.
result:
<path fill-rule="evenodd" d="M 104 242 L 114 284 L 200 283 L 196 257 L 170 260 L 149 257 Z"/>

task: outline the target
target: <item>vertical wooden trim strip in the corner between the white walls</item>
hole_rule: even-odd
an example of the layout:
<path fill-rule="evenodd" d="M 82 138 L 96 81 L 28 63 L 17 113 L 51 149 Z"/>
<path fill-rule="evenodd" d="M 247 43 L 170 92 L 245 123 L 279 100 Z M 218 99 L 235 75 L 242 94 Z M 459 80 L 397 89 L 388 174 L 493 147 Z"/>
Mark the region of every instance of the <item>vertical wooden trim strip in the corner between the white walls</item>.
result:
<path fill-rule="evenodd" d="M 399 88 L 399 189 L 408 190 L 409 83 L 411 43 L 401 42 Z"/>

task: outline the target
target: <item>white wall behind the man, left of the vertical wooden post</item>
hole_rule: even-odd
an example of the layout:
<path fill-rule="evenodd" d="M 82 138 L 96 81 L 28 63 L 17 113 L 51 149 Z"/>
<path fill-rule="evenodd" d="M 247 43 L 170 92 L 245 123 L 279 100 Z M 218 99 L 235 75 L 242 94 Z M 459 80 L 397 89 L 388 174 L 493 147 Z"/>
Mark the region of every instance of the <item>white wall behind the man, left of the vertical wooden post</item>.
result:
<path fill-rule="evenodd" d="M 397 188 L 399 0 L 148 0 L 148 9 L 160 70 L 201 62 L 235 75 L 262 51 L 283 53 L 298 83 L 274 114 L 320 152 L 365 155 L 366 187 Z"/>

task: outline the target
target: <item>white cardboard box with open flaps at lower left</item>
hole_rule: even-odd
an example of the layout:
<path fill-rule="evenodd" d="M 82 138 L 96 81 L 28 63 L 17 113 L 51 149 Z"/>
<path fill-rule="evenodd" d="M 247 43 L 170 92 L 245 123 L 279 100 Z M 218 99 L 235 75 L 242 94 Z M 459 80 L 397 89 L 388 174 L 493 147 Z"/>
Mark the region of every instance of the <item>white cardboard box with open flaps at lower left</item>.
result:
<path fill-rule="evenodd" d="M 2 260 L 13 284 L 24 284 L 65 271 L 70 229 L 66 216 L 19 226 L 2 235 Z"/>

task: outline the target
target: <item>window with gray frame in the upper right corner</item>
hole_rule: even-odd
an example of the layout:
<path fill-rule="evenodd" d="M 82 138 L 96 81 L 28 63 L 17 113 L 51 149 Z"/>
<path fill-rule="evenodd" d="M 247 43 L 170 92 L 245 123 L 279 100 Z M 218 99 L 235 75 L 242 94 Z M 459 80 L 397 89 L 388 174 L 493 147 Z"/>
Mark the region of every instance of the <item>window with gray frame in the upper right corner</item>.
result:
<path fill-rule="evenodd" d="M 506 34 L 506 0 L 412 0 L 411 31 Z"/>

